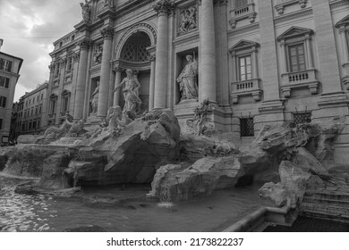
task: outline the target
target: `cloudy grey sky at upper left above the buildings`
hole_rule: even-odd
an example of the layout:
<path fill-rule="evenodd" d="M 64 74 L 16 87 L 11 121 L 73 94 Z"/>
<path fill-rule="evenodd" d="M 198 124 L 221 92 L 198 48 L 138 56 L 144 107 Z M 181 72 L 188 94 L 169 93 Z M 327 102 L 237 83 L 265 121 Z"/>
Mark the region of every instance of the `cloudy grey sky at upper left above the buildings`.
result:
<path fill-rule="evenodd" d="M 49 78 L 53 42 L 81 21 L 82 0 L 0 0 L 1 52 L 23 59 L 13 102 Z"/>

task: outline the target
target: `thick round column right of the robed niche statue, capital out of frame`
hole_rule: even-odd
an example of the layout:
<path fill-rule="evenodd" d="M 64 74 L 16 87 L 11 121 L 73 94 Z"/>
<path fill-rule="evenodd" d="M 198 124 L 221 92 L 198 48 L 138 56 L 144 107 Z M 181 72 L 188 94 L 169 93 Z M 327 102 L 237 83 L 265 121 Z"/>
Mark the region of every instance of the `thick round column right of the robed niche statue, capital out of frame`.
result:
<path fill-rule="evenodd" d="M 216 102 L 216 42 L 213 1 L 201 0 L 200 6 L 199 102 Z"/>

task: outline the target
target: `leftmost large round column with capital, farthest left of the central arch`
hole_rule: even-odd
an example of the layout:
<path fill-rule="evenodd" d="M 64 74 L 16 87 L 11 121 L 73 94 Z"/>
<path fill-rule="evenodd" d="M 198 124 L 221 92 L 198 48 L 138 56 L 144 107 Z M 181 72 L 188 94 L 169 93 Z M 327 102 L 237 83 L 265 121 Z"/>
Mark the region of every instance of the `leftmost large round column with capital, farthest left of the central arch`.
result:
<path fill-rule="evenodd" d="M 73 117 L 75 121 L 82 119 L 84 88 L 86 86 L 86 75 L 88 70 L 89 46 L 90 41 L 88 39 L 82 40 L 80 43 L 78 79 L 76 83 L 76 94 L 73 109 Z"/>

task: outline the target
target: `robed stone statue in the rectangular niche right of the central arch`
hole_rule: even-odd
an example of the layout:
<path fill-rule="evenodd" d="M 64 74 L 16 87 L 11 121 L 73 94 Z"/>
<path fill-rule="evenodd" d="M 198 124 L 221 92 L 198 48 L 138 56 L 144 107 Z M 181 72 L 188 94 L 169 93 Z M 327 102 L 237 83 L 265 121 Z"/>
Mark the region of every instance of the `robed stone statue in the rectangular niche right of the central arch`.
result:
<path fill-rule="evenodd" d="M 187 55 L 188 64 L 177 78 L 179 90 L 181 91 L 181 101 L 185 99 L 198 100 L 198 85 L 196 75 L 198 74 L 198 63 L 192 60 L 192 55 Z"/>

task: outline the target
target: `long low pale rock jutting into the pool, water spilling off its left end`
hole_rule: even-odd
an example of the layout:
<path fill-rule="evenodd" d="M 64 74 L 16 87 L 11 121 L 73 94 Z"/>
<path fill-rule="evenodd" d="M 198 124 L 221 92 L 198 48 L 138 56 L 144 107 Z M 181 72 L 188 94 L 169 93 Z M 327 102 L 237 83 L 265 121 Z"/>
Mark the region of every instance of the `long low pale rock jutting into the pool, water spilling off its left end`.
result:
<path fill-rule="evenodd" d="M 210 196 L 215 189 L 234 187 L 243 171 L 234 156 L 205 157 L 190 167 L 166 165 L 157 170 L 149 196 L 183 201 Z"/>

